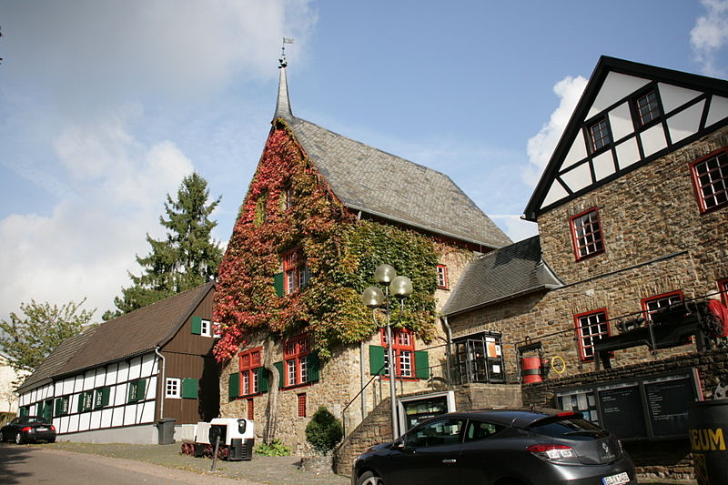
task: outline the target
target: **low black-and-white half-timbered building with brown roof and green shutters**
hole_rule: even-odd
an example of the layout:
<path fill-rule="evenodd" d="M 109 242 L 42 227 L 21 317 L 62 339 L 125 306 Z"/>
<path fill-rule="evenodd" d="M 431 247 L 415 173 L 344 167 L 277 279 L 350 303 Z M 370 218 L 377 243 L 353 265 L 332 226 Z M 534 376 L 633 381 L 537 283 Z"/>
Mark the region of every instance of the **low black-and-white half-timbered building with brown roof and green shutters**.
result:
<path fill-rule="evenodd" d="M 67 338 L 17 389 L 21 415 L 52 419 L 58 440 L 157 443 L 160 421 L 191 438 L 217 417 L 214 283 Z M 167 424 L 168 426 L 168 424 Z"/>

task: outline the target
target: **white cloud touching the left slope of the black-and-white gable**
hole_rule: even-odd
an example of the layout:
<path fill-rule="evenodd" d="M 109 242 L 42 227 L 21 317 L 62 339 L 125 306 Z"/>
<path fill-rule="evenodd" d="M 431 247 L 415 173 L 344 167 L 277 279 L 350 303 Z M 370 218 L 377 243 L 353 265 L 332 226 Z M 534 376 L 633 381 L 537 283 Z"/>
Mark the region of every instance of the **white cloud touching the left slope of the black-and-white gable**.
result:
<path fill-rule="evenodd" d="M 541 172 L 549 163 L 586 83 L 587 80 L 581 76 L 566 76 L 553 86 L 553 92 L 559 96 L 559 106 L 551 113 L 549 122 L 541 127 L 541 131 L 529 138 L 526 147 L 530 165 L 524 171 L 523 178 L 531 187 L 538 183 Z"/>

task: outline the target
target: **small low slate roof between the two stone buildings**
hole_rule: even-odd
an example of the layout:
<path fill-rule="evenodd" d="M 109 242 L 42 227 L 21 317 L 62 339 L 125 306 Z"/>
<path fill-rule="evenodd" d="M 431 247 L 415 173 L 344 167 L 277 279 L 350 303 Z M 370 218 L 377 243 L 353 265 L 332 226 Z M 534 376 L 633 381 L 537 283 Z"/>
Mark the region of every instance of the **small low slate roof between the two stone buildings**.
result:
<path fill-rule="evenodd" d="M 563 285 L 541 259 L 538 236 L 471 261 L 441 313 L 451 316 Z"/>

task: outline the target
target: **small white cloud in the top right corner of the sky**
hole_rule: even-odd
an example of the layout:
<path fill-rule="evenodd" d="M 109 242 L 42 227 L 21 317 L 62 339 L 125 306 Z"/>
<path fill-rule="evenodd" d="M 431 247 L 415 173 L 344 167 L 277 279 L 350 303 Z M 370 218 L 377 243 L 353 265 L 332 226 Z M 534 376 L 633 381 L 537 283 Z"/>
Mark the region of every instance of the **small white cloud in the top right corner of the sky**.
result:
<path fill-rule="evenodd" d="M 690 45 L 706 76 L 723 77 L 723 66 L 715 66 L 715 53 L 728 41 L 728 0 L 701 0 L 707 11 L 695 20 Z"/>

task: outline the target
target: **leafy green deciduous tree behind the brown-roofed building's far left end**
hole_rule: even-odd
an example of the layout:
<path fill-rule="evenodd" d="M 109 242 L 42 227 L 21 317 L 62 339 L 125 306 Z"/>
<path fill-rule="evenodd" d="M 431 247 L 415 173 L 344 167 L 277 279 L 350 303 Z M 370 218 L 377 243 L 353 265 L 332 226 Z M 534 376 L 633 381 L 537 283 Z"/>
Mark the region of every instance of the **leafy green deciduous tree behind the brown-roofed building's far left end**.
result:
<path fill-rule="evenodd" d="M 10 313 L 10 320 L 0 320 L 0 351 L 7 362 L 18 372 L 33 372 L 66 338 L 80 333 L 91 321 L 96 308 L 91 311 L 70 301 L 61 307 L 49 303 L 21 303 L 23 315 Z"/>

